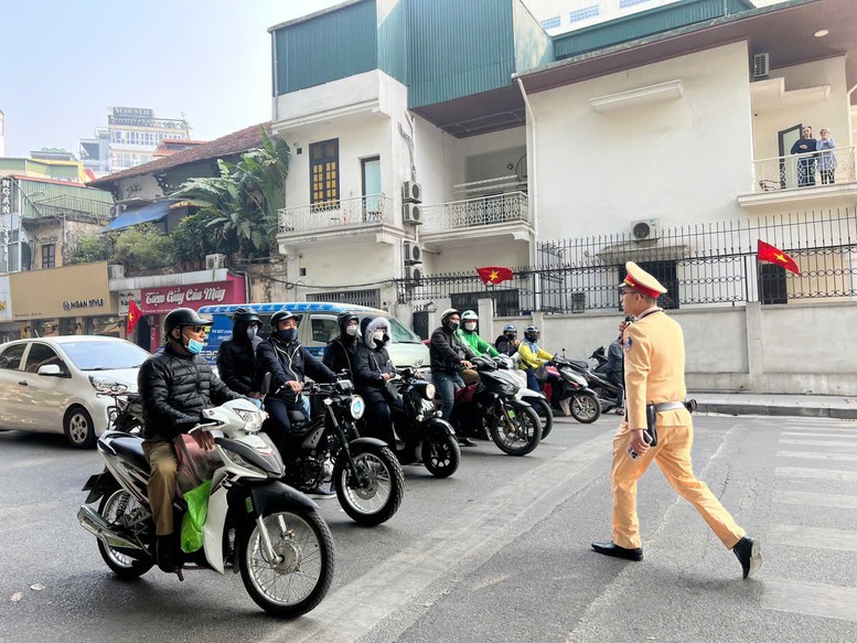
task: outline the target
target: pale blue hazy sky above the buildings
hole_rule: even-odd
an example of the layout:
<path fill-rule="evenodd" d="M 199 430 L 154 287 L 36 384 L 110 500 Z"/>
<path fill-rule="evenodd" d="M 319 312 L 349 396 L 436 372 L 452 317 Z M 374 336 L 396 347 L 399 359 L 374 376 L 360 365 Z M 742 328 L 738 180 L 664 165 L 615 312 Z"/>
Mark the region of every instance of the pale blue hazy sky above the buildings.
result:
<path fill-rule="evenodd" d="M 6 156 L 107 126 L 109 107 L 150 107 L 212 140 L 270 120 L 268 28 L 341 0 L 0 0 Z"/>

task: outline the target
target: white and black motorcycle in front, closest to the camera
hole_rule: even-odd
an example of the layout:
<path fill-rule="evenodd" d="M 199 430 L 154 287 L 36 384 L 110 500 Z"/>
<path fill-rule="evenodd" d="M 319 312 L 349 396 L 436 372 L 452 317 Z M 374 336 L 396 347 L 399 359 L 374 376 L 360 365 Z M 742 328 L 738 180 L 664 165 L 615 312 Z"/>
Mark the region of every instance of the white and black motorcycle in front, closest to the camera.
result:
<path fill-rule="evenodd" d="M 247 400 L 233 400 L 202 415 L 203 421 L 192 430 L 217 436 L 218 463 L 202 548 L 185 554 L 182 565 L 193 561 L 225 574 L 231 562 L 247 593 L 266 612 L 290 619 L 309 612 L 330 589 L 335 558 L 318 505 L 280 481 L 282 460 L 260 432 L 264 412 Z M 105 470 L 84 485 L 89 494 L 77 518 L 97 537 L 98 551 L 116 576 L 138 578 L 157 559 L 142 438 L 107 431 L 98 439 L 97 451 Z M 92 503 L 99 499 L 96 511 Z M 174 508 L 185 508 L 181 494 Z M 184 580 L 181 567 L 176 574 Z"/>

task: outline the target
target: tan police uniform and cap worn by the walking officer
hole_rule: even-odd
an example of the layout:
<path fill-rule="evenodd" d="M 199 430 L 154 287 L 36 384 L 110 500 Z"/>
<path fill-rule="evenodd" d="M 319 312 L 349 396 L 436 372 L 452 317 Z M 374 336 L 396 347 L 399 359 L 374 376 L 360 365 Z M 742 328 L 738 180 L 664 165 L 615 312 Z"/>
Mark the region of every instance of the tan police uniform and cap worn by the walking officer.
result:
<path fill-rule="evenodd" d="M 625 286 L 650 296 L 666 292 L 654 277 L 633 261 L 629 261 L 626 268 Z M 673 489 L 696 507 L 724 545 L 732 548 L 744 536 L 744 531 L 708 486 L 694 475 L 690 465 L 694 429 L 686 409 L 657 414 L 657 444 L 644 454 L 632 459 L 625 451 L 629 431 L 646 428 L 647 404 L 685 399 L 682 326 L 662 309 L 653 307 L 625 328 L 623 337 L 628 415 L 613 438 L 613 543 L 629 549 L 641 547 L 636 481 L 654 460 Z"/>

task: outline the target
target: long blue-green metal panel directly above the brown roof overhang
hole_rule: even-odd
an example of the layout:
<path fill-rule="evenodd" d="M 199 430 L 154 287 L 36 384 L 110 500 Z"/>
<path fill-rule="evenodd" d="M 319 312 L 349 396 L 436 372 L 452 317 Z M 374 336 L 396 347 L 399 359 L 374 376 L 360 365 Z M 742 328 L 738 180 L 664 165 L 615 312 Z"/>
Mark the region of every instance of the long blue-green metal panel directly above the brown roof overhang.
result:
<path fill-rule="evenodd" d="M 555 36 L 554 52 L 557 60 L 567 58 L 697 22 L 714 20 L 724 15 L 724 4 L 726 4 L 726 10 L 730 15 L 753 8 L 747 0 L 682 0 Z"/>

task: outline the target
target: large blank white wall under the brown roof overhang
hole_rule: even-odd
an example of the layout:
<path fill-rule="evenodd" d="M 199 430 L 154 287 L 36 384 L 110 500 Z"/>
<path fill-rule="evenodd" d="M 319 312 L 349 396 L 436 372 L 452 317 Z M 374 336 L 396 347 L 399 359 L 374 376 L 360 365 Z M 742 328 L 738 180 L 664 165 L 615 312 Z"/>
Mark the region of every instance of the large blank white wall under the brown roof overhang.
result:
<path fill-rule="evenodd" d="M 596 112 L 589 100 L 681 79 L 681 98 Z M 730 218 L 751 181 L 746 43 L 529 96 L 536 127 L 538 237 L 625 232 L 660 218 Z"/>

